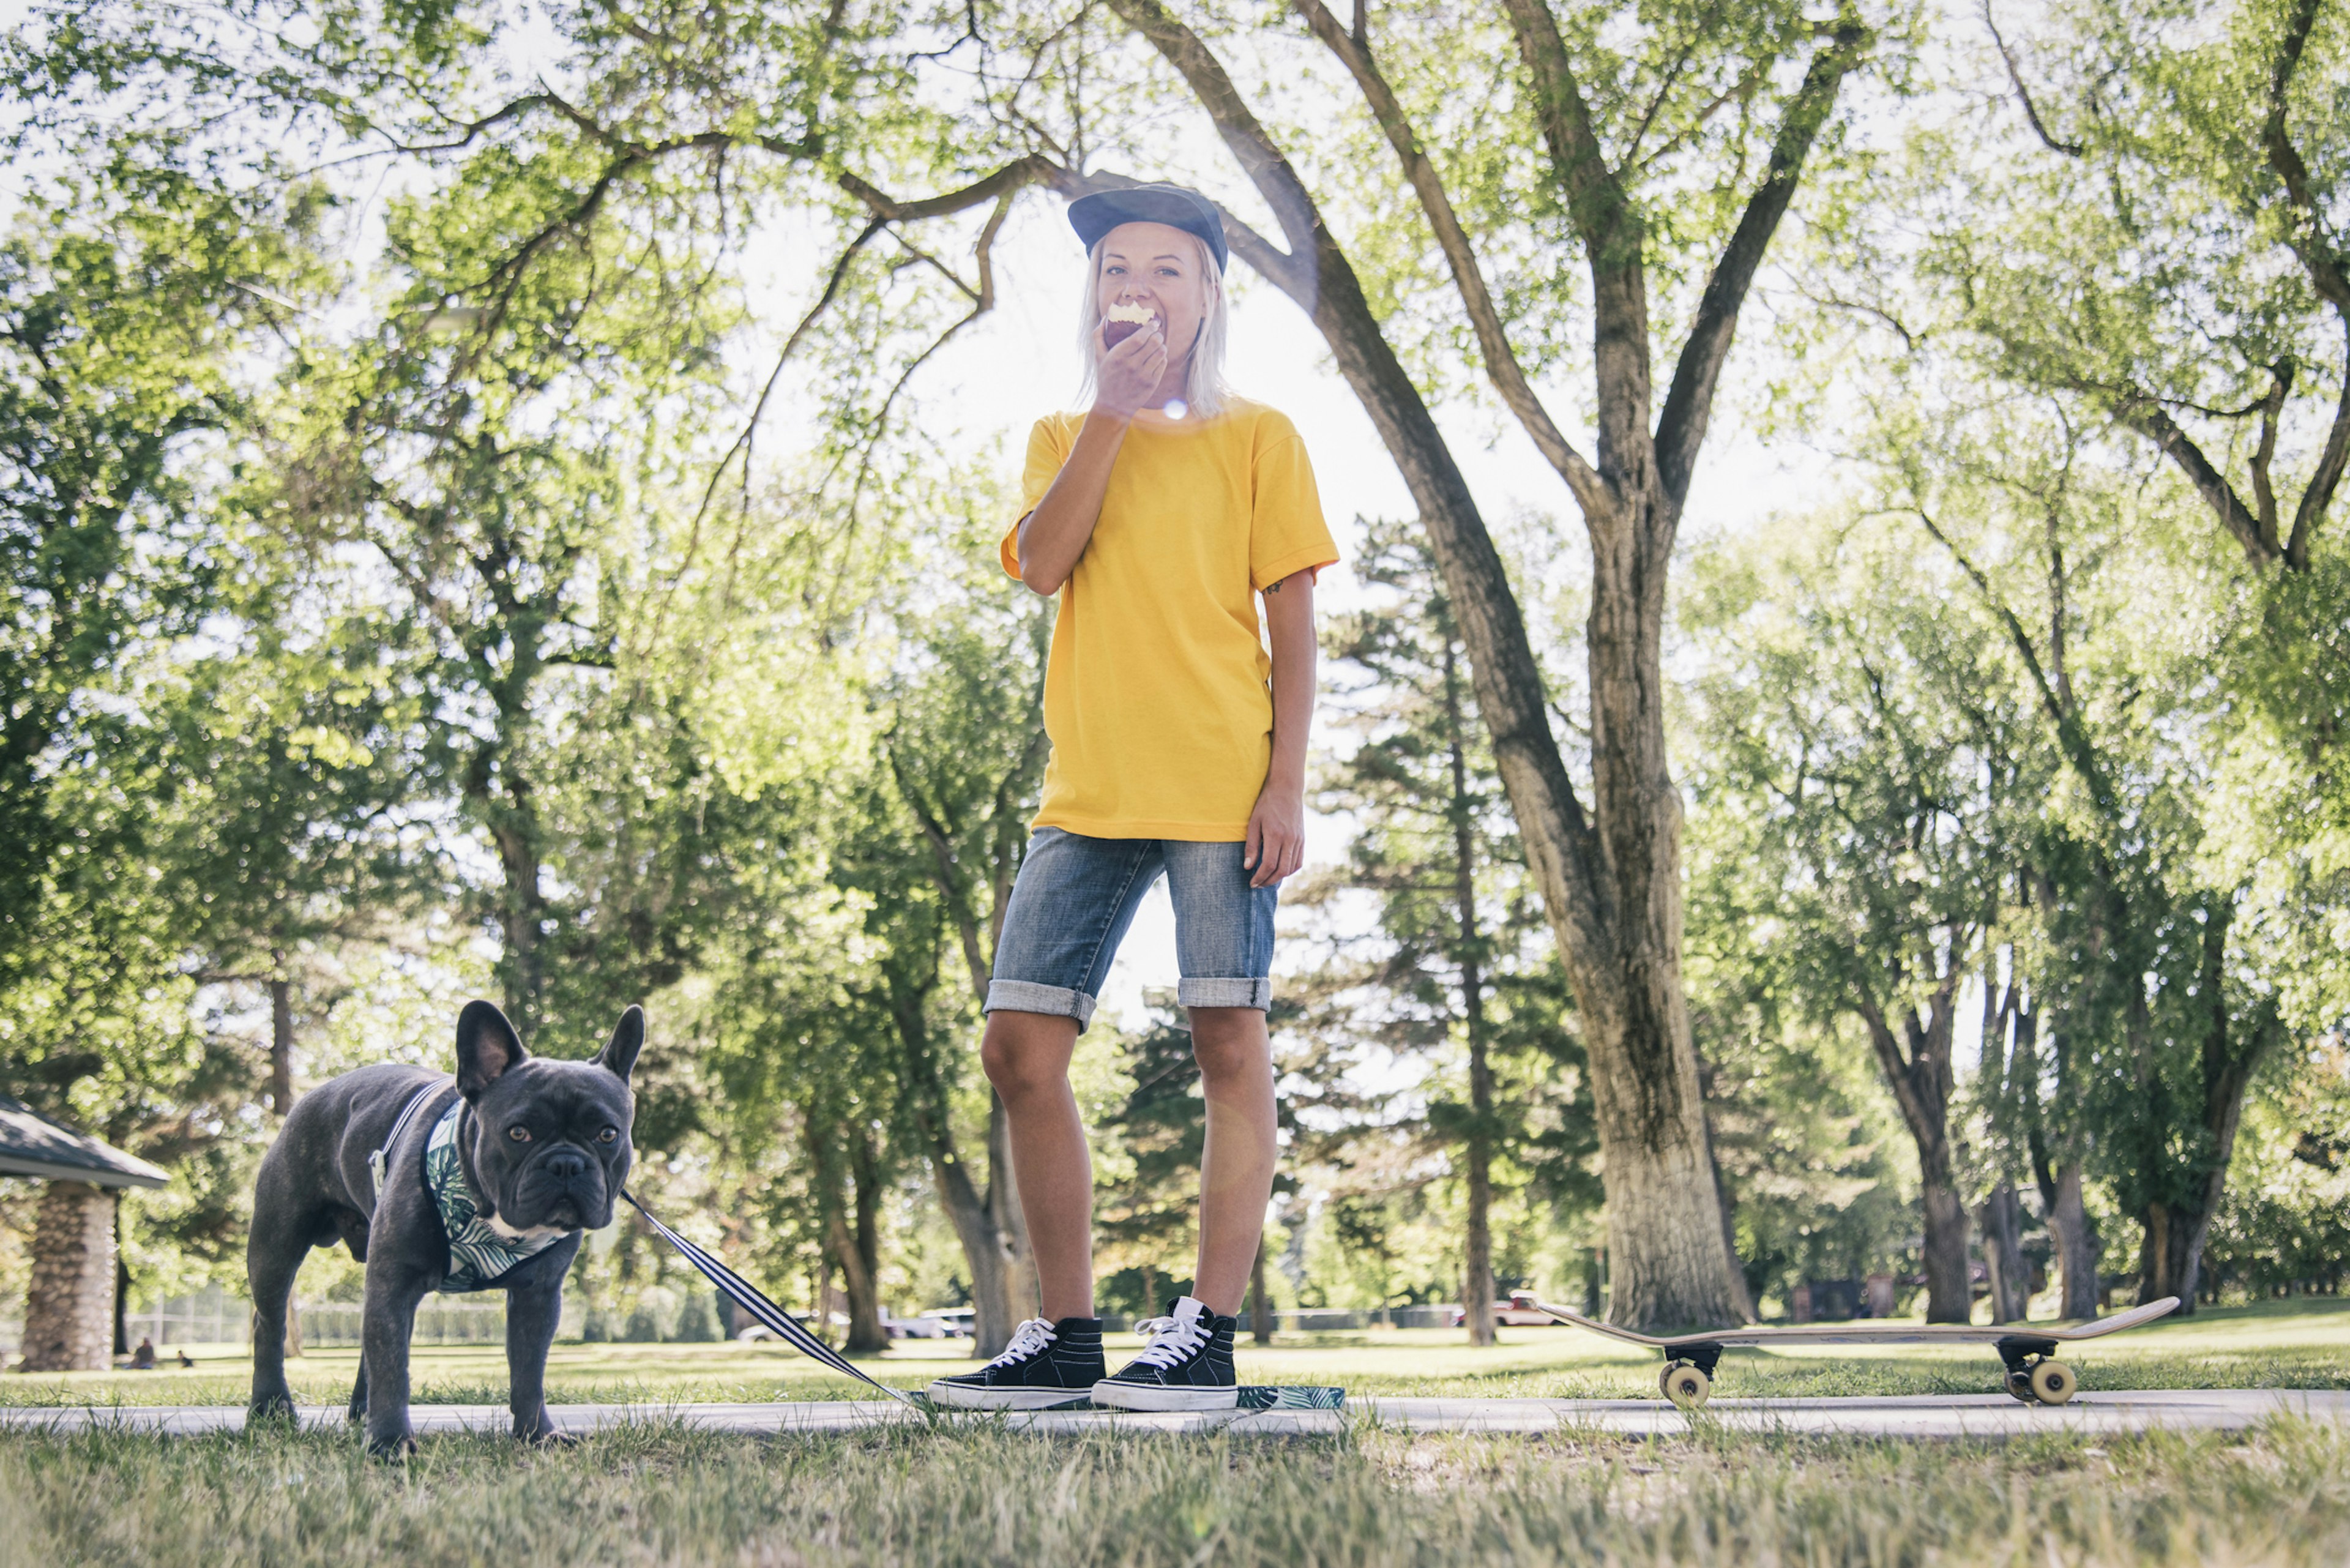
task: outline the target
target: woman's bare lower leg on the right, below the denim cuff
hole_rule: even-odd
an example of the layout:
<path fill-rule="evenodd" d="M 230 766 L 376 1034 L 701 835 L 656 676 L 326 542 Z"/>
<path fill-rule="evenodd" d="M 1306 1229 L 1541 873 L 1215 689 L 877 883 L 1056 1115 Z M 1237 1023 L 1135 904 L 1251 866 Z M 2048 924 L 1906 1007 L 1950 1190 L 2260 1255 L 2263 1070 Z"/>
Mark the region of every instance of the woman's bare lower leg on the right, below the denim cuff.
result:
<path fill-rule="evenodd" d="M 1191 1056 L 1208 1100 L 1198 1159 L 1198 1272 L 1191 1295 L 1238 1316 L 1274 1197 L 1274 1044 L 1253 1006 L 1191 1009 Z M 1027 1192 L 1027 1182 L 1020 1185 Z"/>

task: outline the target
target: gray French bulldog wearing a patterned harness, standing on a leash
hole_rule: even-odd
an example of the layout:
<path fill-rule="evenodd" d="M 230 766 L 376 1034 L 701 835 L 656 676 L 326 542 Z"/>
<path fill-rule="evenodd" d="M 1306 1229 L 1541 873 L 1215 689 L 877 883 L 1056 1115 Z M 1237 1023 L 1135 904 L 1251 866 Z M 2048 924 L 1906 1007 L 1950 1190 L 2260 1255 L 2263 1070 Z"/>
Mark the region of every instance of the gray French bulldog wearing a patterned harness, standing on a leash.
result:
<path fill-rule="evenodd" d="M 644 1013 L 627 1009 L 592 1063 L 533 1058 L 489 1001 L 456 1020 L 456 1079 L 360 1067 L 306 1093 L 254 1182 L 254 1399 L 247 1418 L 291 1415 L 284 1338 L 294 1272 L 343 1241 L 367 1265 L 360 1382 L 350 1420 L 371 1453 L 416 1448 L 409 1333 L 430 1291 L 505 1291 L 515 1436 L 562 1439 L 548 1420 L 548 1347 L 580 1229 L 611 1225 L 627 1180 L 627 1074 Z"/>

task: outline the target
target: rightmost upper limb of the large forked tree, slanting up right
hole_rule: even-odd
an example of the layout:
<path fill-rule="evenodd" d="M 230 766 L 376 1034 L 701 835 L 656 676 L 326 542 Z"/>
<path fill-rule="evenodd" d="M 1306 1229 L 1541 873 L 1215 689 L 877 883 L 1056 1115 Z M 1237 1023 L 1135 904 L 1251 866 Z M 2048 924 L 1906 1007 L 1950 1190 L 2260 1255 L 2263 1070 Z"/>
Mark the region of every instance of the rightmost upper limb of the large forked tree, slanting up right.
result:
<path fill-rule="evenodd" d="M 1795 89 L 1786 115 L 1779 120 L 1779 136 L 1772 141 L 1762 183 L 1748 197 L 1737 233 L 1730 235 L 1730 247 L 1706 280 L 1706 294 L 1697 303 L 1697 322 L 1690 327 L 1690 341 L 1683 343 L 1680 362 L 1673 367 L 1673 390 L 1666 395 L 1664 416 L 1657 421 L 1657 477 L 1664 482 L 1664 494 L 1676 515 L 1690 494 L 1697 451 L 1713 418 L 1713 388 L 1720 383 L 1723 364 L 1730 360 L 1730 341 L 1739 327 L 1746 289 L 1753 284 L 1755 268 L 1762 266 L 1762 252 L 1770 249 L 1779 219 L 1786 216 L 1788 202 L 1795 200 L 1795 181 L 1812 155 L 1812 141 L 1819 136 L 1819 127 L 1826 125 L 1828 110 L 1835 106 L 1835 94 L 1845 75 L 1859 63 L 1866 45 L 1868 31 L 1859 19 L 1849 12 L 1840 16 L 1835 31 L 1828 35 L 1828 45 L 1812 56 L 1812 68 L 1802 73 L 1802 87 Z"/>

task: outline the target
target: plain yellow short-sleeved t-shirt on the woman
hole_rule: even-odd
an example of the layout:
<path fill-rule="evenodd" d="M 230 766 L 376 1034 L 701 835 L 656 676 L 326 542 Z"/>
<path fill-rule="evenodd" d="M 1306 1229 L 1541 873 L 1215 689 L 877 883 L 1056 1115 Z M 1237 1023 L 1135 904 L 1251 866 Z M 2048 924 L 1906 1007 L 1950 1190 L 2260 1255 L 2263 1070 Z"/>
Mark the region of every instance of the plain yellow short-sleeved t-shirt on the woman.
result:
<path fill-rule="evenodd" d="M 1083 423 L 1036 421 L 1020 517 L 1043 501 Z M 1274 661 L 1257 595 L 1335 559 L 1285 414 L 1234 400 L 1208 421 L 1137 418 L 1060 588 L 1043 677 L 1053 759 L 1034 825 L 1095 839 L 1246 839 L 1274 759 Z M 1018 522 L 1003 569 L 1020 576 Z"/>

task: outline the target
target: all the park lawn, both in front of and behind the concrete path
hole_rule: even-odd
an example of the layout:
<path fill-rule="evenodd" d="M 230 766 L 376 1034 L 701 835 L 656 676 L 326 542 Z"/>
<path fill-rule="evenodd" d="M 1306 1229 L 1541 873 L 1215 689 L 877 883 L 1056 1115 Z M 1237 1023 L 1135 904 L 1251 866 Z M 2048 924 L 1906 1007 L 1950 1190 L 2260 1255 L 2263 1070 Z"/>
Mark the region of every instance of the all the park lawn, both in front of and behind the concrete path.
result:
<path fill-rule="evenodd" d="M 916 1385 L 940 1345 L 870 1366 Z M 2084 1347 L 2089 1387 L 2350 1387 L 2350 1309 L 2275 1302 Z M 928 1356 L 924 1352 L 931 1352 Z M 425 1399 L 505 1396 L 494 1347 L 418 1356 Z M 1732 1392 L 1988 1392 L 1967 1352 L 1739 1354 Z M 298 1363 L 341 1401 L 352 1352 Z M 1412 1394 L 1654 1396 L 1654 1361 L 1572 1331 L 1363 1333 L 1243 1349 L 1260 1382 Z M 9 1403 L 240 1401 L 244 1363 L 0 1378 Z M 848 1396 L 790 1352 L 566 1345 L 559 1399 Z M 407 1465 L 348 1432 L 157 1439 L 0 1434 L 0 1568 L 122 1563 L 1868 1563 L 2122 1568 L 2350 1561 L 2350 1436 L 2007 1443 L 1593 1434 L 1264 1441 L 1020 1436 L 987 1422 L 743 1439 L 651 1420 L 576 1448 L 432 1436 Z"/>

